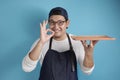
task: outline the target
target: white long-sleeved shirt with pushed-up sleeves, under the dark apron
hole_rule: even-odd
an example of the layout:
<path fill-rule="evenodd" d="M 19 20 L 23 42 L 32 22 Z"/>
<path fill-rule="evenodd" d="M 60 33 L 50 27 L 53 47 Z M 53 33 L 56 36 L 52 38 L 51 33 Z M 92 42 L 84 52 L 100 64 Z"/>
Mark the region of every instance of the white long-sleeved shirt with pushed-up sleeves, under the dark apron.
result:
<path fill-rule="evenodd" d="M 70 39 L 71 39 L 71 43 L 72 43 L 72 46 L 73 46 L 73 50 L 74 50 L 75 55 L 76 55 L 77 63 L 80 64 L 80 68 L 84 73 L 90 74 L 93 71 L 94 66 L 92 68 L 86 68 L 85 66 L 83 66 L 83 60 L 84 60 L 85 52 L 84 52 L 84 47 L 83 47 L 82 43 L 80 41 L 73 40 L 71 37 L 70 37 Z M 36 46 L 36 44 L 39 40 L 40 39 L 37 39 L 33 43 L 29 52 L 32 51 L 32 49 Z M 50 40 L 45 43 L 45 45 L 43 46 L 43 48 L 41 50 L 41 53 L 39 55 L 39 59 L 36 60 L 36 61 L 33 61 L 29 58 L 29 55 L 28 55 L 29 52 L 28 52 L 28 54 L 24 57 L 24 59 L 22 61 L 22 68 L 25 72 L 33 71 L 36 68 L 36 65 L 37 65 L 38 61 L 40 61 L 40 64 L 42 65 L 45 54 L 49 49 L 49 42 L 50 42 Z M 63 52 L 63 51 L 69 50 L 70 46 L 69 46 L 68 38 L 66 38 L 62 41 L 57 41 L 57 40 L 53 39 L 51 48 L 58 51 L 58 52 Z"/>

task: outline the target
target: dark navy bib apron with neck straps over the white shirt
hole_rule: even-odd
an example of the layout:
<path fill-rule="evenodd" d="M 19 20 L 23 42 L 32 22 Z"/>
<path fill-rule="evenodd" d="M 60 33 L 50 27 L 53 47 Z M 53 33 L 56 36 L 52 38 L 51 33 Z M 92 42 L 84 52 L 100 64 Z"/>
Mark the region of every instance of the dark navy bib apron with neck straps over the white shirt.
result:
<path fill-rule="evenodd" d="M 39 80 L 78 80 L 75 52 L 68 34 L 67 37 L 70 50 L 64 52 L 51 49 L 52 38 L 50 39 L 49 50 L 43 60 Z"/>

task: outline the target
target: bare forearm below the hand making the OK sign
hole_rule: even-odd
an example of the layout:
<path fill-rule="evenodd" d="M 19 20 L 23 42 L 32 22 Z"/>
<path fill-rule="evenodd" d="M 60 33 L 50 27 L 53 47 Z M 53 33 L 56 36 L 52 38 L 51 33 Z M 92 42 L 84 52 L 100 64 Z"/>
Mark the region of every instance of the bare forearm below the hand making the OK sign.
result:
<path fill-rule="evenodd" d="M 39 40 L 37 45 L 29 53 L 29 57 L 30 57 L 31 60 L 33 60 L 33 61 L 38 60 L 43 45 L 44 44 Z"/>

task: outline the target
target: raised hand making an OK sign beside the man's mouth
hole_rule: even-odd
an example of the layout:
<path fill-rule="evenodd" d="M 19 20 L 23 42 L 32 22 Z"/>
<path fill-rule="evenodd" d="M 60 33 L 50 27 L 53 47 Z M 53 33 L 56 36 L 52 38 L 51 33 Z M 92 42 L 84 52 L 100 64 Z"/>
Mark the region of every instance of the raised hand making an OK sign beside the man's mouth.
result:
<path fill-rule="evenodd" d="M 47 24 L 48 20 L 40 23 L 40 41 L 43 44 L 46 43 L 54 35 L 54 31 L 52 31 L 51 29 L 46 29 Z M 48 32 L 51 32 L 51 34 L 47 34 Z"/>

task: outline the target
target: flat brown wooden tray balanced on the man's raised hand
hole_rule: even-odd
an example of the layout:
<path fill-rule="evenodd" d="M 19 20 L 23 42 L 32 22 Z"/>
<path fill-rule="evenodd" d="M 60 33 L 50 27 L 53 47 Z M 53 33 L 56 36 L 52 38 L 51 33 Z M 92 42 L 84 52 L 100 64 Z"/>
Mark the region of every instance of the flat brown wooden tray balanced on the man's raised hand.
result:
<path fill-rule="evenodd" d="M 75 40 L 115 40 L 115 38 L 106 35 L 94 35 L 94 36 L 71 36 Z"/>

